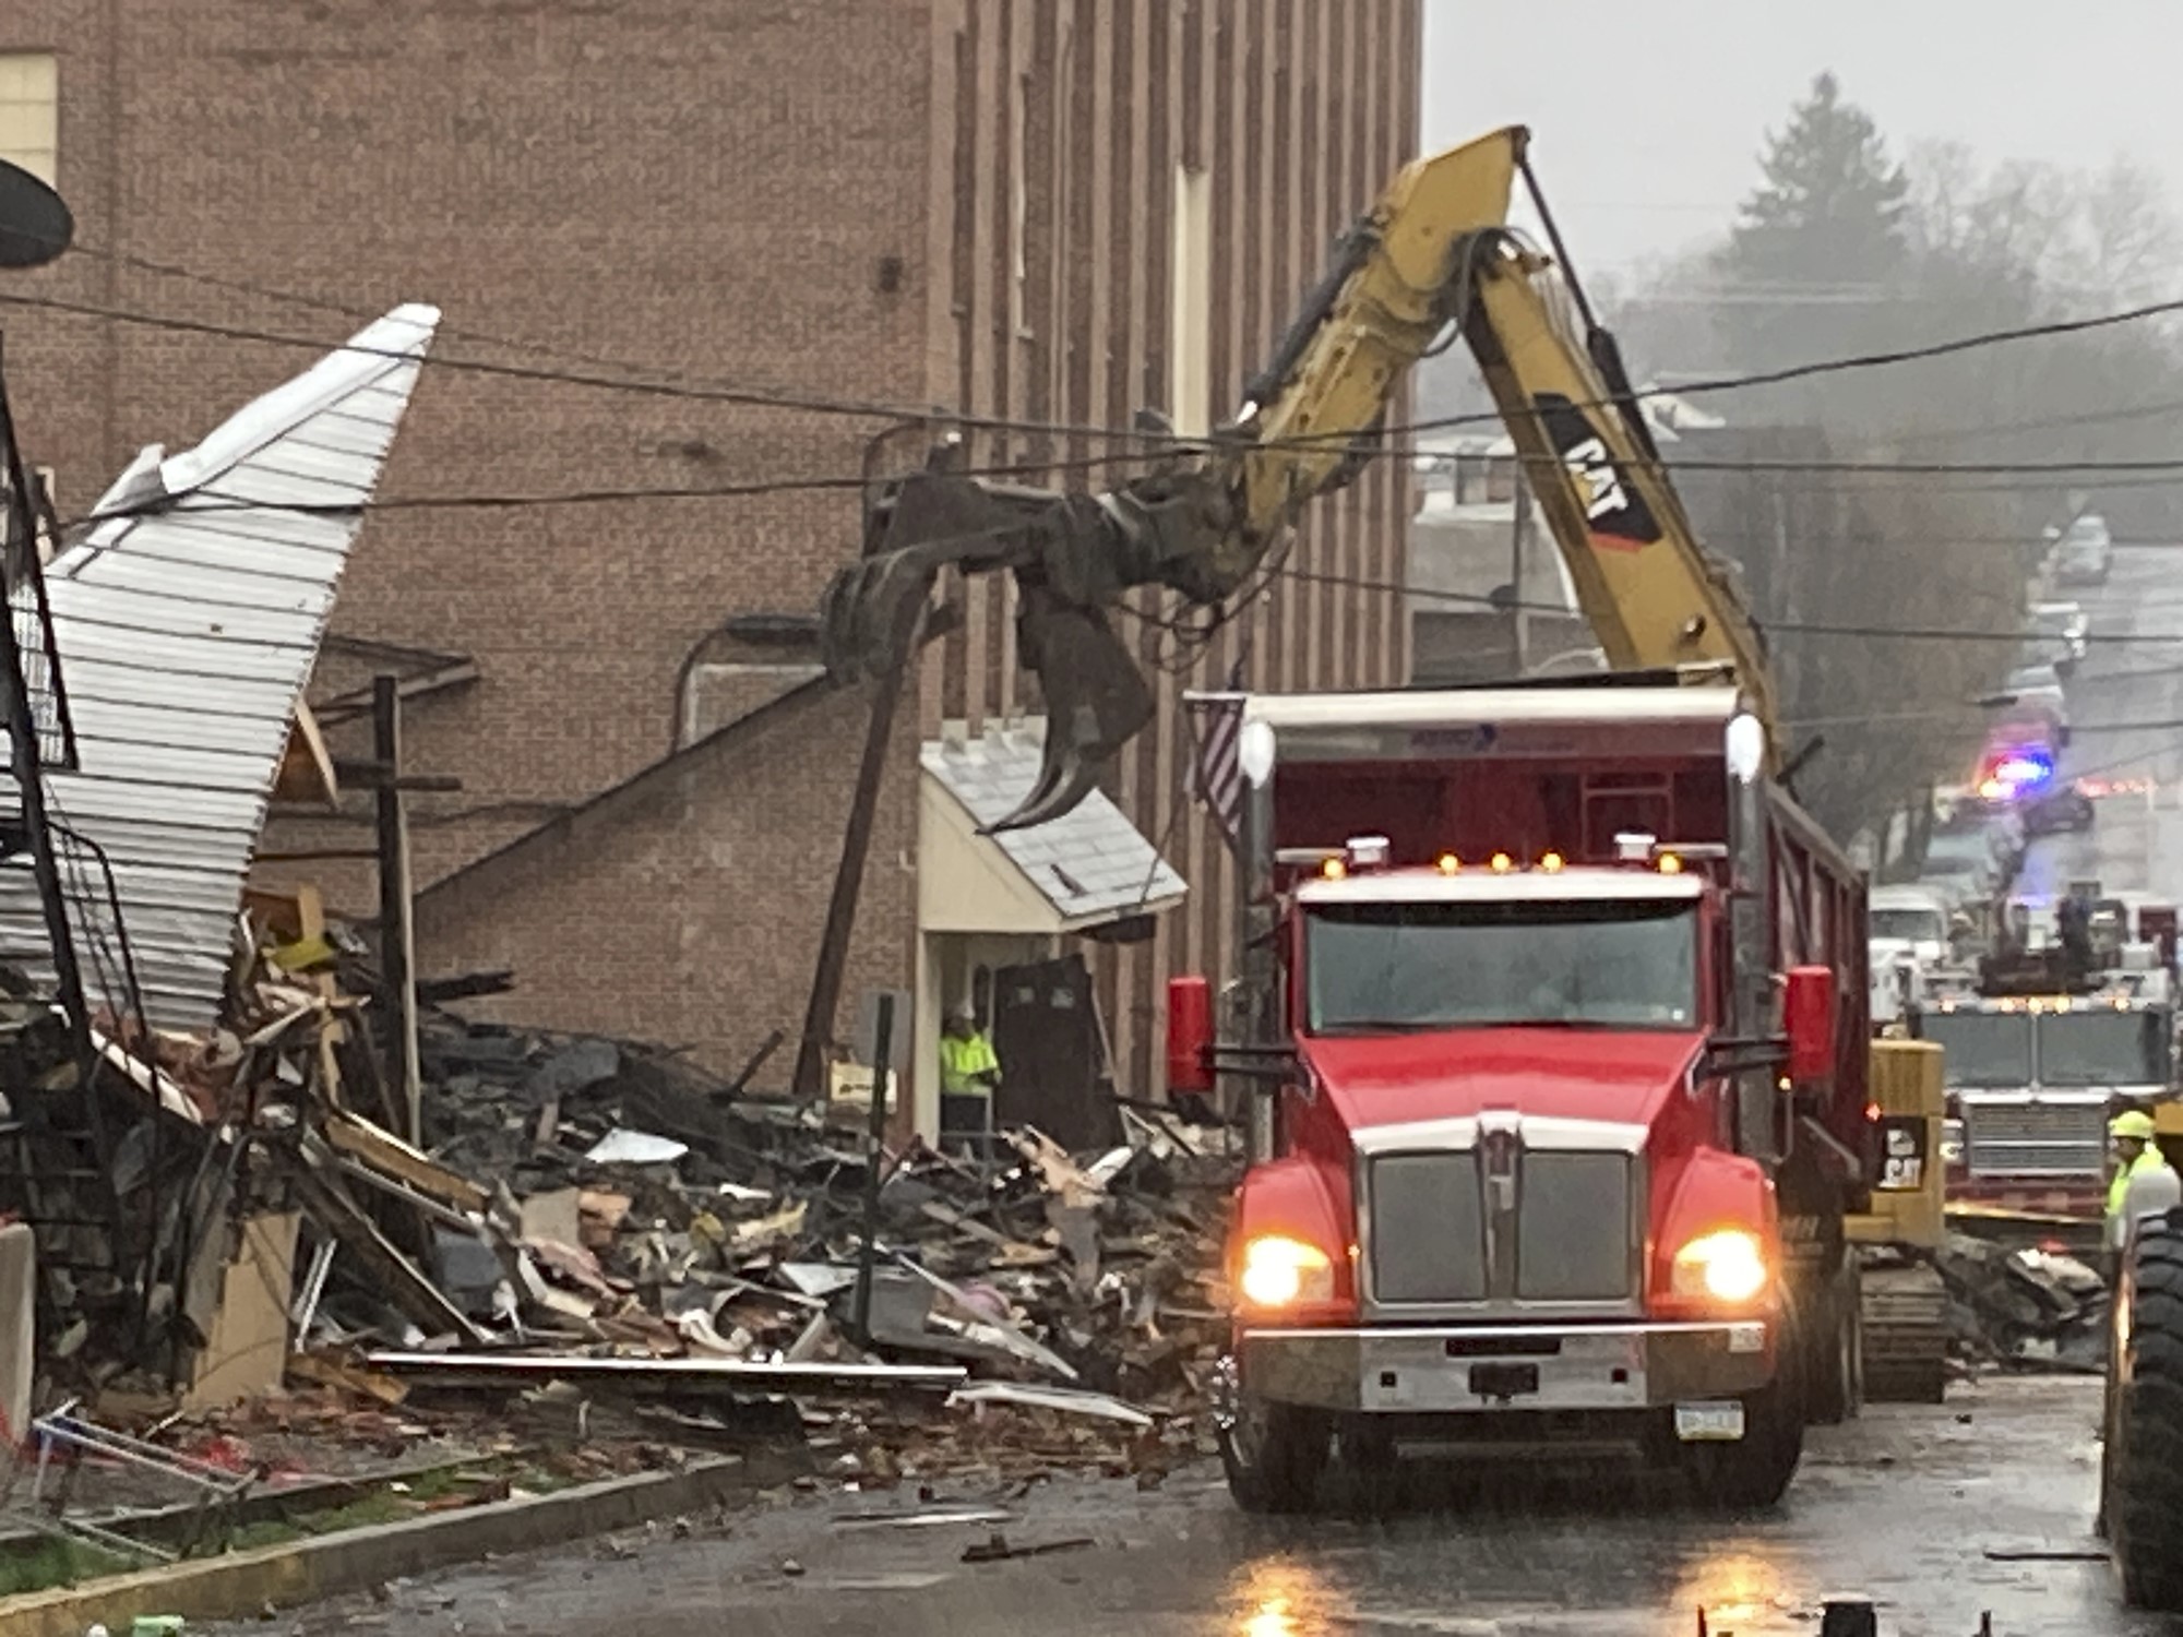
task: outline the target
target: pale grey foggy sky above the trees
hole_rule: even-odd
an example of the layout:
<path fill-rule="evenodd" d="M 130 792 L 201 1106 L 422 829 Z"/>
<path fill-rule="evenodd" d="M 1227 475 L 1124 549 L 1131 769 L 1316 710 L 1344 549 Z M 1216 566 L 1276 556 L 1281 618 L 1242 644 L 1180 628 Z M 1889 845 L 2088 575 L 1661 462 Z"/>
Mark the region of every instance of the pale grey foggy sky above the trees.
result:
<path fill-rule="evenodd" d="M 1532 127 L 1591 273 L 1725 229 L 1827 68 L 1897 159 L 1919 138 L 2072 168 L 2122 151 L 2183 214 L 2179 44 L 2183 0 L 1425 0 L 1423 142 Z"/>

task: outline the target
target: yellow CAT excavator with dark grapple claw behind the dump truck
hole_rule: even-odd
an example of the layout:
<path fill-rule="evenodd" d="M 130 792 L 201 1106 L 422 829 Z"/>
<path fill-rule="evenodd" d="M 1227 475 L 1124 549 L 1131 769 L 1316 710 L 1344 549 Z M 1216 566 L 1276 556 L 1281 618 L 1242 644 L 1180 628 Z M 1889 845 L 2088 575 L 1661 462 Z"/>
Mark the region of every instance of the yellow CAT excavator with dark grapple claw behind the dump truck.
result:
<path fill-rule="evenodd" d="M 1460 336 L 1607 664 L 1705 681 L 1733 672 L 1779 760 L 1788 738 L 1764 640 L 1698 546 L 1613 336 L 1570 273 L 1528 144 L 1508 127 L 1406 166 L 1209 439 L 1161 441 L 1142 417 L 1146 469 L 1096 493 L 995 482 L 947 461 L 895 482 L 867 557 L 827 589 L 830 670 L 902 664 L 943 567 L 1011 572 L 1048 727 L 1037 784 L 991 827 L 1072 810 L 1153 716 L 1109 624 L 1120 598 L 1148 585 L 1198 609 L 1251 596 L 1279 570 L 1303 509 L 1388 454 L 1386 413 L 1406 371 Z M 1508 225 L 1517 181 L 1548 249 Z M 1845 1355 L 1814 1384 L 1816 1419 L 1853 1412 L 1860 1395 L 1936 1401 L 1945 1382 L 1945 1294 L 1928 1257 L 1943 1231 L 1941 1054 L 1914 1041 L 1873 1041 L 1873 1054 L 1882 1166 L 1871 1209 L 1849 1222 L 1866 1246 L 1860 1288 L 1838 1292 L 1862 1327 L 1845 1327 Z M 1858 1279 L 1858 1259 L 1845 1266 Z"/>

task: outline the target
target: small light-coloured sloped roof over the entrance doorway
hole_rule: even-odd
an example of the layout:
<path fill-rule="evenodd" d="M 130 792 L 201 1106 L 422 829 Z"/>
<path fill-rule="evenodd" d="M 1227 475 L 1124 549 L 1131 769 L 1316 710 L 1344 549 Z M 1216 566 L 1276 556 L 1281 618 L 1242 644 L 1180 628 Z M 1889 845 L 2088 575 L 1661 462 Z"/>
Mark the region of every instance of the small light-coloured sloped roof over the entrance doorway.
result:
<path fill-rule="evenodd" d="M 1039 742 L 1026 733 L 928 742 L 921 760 L 980 825 L 1013 812 L 1039 777 Z M 1161 910 L 1188 891 L 1153 843 L 1098 790 L 1059 818 L 989 840 L 1070 923 Z"/>

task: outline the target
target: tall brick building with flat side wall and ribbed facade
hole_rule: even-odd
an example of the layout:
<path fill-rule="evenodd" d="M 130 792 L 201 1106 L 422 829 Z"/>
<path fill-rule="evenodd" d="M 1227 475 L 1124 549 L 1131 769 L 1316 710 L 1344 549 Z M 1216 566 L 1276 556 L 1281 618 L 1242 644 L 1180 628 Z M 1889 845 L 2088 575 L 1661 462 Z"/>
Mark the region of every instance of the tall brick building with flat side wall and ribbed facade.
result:
<path fill-rule="evenodd" d="M 731 1063 L 801 1021 L 862 701 L 723 622 L 812 609 L 858 506 L 795 485 L 851 478 L 888 423 L 753 397 L 1203 428 L 1415 151 L 1417 52 L 1417 0 L 11 0 L 0 155 L 57 179 L 81 247 L 0 290 L 48 303 L 0 306 L 9 378 L 65 515 L 360 314 L 439 303 L 312 696 L 338 718 L 404 674 L 408 764 L 463 781 L 413 810 L 426 973 L 509 965 L 513 1019 Z M 1399 578 L 1404 482 L 1377 463 L 1292 561 Z M 478 504 L 511 495 L 557 500 Z M 917 936 L 921 751 L 1024 709 L 1004 587 L 952 596 L 845 989 L 912 989 L 919 1045 L 961 987 Z M 1391 683 L 1406 640 L 1393 594 L 1284 578 L 1161 681 L 1113 797 L 1192 891 L 1089 949 L 1126 1085 L 1233 886 L 1177 690 Z M 284 818 L 266 871 L 362 912 L 365 845 L 362 808 Z"/>

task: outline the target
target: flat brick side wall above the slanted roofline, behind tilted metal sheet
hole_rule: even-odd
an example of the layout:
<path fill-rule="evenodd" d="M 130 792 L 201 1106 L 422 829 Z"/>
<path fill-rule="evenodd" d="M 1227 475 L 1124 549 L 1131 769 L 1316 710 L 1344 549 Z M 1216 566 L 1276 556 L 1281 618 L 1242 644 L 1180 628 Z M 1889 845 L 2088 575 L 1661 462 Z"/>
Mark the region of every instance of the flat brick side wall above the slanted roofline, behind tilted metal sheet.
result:
<path fill-rule="evenodd" d="M 402 299 L 445 330 L 393 498 L 854 474 L 873 421 L 448 362 L 915 399 L 926 39 L 921 0 L 11 0 L 0 50 L 61 52 L 61 188 L 90 247 L 24 286 L 310 343 L 0 310 L 63 511 Z M 450 812 L 570 803 L 655 760 L 690 648 L 727 613 L 808 607 L 856 530 L 845 493 L 373 517 L 338 629 L 482 672 L 408 720 L 415 766 L 465 781 L 419 803 L 419 871 L 500 834 Z M 369 901 L 360 871 L 334 886 Z"/>

